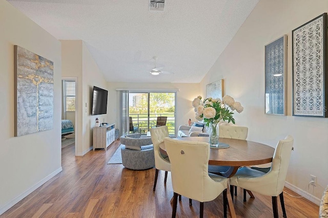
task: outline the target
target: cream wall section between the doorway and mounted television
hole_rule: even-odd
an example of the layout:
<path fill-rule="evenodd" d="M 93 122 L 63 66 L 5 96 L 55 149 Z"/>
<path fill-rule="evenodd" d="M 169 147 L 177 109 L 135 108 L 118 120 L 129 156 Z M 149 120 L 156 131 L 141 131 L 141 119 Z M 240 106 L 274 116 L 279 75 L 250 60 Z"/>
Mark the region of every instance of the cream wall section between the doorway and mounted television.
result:
<path fill-rule="evenodd" d="M 106 118 L 106 114 L 91 115 L 93 86 L 106 89 L 107 82 L 83 41 L 60 40 L 60 42 L 63 77 L 77 78 L 75 155 L 83 156 L 92 149 L 92 128 L 95 125 L 95 117 L 99 120 Z"/>

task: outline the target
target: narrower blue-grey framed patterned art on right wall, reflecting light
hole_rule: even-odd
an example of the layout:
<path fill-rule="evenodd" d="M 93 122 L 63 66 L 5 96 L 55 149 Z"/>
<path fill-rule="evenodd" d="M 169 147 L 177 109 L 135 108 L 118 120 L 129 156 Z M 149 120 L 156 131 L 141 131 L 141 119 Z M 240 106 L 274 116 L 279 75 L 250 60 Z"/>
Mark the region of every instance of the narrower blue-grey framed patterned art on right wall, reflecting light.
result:
<path fill-rule="evenodd" d="M 286 115 L 287 35 L 264 46 L 265 113 Z"/>

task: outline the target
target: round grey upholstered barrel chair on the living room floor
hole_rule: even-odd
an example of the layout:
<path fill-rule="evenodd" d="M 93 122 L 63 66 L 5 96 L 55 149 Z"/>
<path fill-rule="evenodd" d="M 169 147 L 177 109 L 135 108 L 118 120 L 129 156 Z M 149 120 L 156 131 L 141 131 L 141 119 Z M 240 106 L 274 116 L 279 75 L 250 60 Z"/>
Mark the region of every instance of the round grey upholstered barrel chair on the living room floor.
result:
<path fill-rule="evenodd" d="M 155 166 L 151 137 L 140 138 L 139 133 L 120 137 L 122 164 L 129 169 L 149 169 Z"/>

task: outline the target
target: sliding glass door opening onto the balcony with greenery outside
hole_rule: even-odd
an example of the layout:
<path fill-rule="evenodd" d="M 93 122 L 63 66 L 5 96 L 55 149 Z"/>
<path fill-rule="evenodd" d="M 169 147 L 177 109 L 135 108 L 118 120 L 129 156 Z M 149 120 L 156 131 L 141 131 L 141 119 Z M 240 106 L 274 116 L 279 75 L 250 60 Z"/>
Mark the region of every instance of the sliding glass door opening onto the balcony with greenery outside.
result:
<path fill-rule="evenodd" d="M 147 134 L 156 126 L 158 116 L 167 116 L 170 136 L 175 135 L 175 99 L 176 92 L 129 92 L 129 116 L 134 129 Z M 137 128 L 136 128 L 137 127 Z M 131 133 L 131 132 L 130 132 Z"/>

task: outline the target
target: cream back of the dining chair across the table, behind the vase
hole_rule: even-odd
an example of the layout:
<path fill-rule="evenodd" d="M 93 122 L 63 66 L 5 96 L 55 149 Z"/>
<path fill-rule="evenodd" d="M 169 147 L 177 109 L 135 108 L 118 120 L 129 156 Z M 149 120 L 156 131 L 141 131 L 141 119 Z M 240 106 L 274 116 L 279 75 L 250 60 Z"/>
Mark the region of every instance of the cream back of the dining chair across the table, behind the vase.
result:
<path fill-rule="evenodd" d="M 246 140 L 248 135 L 248 127 L 239 126 L 219 126 L 219 137 L 221 138 L 234 138 Z"/>

